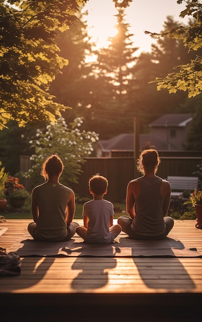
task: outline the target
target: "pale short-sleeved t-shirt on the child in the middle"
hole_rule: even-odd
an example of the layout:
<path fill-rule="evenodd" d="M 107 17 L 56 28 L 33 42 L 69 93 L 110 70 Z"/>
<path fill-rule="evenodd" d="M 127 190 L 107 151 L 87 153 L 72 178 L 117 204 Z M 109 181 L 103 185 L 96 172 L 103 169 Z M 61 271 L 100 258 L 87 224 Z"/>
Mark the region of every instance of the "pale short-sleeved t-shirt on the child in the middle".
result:
<path fill-rule="evenodd" d="M 90 200 L 83 205 L 83 216 L 87 216 L 88 228 L 86 241 L 91 243 L 109 243 L 109 218 L 114 216 L 114 206 L 108 200 Z"/>

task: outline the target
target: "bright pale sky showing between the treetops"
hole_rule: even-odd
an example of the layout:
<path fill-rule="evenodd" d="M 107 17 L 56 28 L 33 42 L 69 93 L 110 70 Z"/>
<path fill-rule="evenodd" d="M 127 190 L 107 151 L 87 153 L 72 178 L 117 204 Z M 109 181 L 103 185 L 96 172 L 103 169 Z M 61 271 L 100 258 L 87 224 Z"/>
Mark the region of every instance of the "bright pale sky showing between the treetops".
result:
<path fill-rule="evenodd" d="M 126 23 L 130 24 L 129 31 L 134 34 L 131 38 L 134 47 L 140 47 L 136 53 L 150 51 L 151 43 L 155 40 L 144 31 L 160 32 L 168 15 L 175 21 L 186 24 L 188 18 L 181 18 L 179 14 L 186 8 L 186 3 L 177 4 L 177 0 L 133 0 L 130 7 L 125 10 Z M 88 0 L 85 9 L 88 10 L 88 33 L 98 47 L 107 45 L 107 38 L 116 33 L 117 10 L 112 0 Z"/>

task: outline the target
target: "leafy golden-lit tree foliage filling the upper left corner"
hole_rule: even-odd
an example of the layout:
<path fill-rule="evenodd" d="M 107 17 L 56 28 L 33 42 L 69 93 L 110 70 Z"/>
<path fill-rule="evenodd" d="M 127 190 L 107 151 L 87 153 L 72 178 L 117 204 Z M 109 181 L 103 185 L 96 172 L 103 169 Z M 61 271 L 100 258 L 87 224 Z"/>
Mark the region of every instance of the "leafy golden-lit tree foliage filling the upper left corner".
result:
<path fill-rule="evenodd" d="M 86 1 L 0 1 L 0 129 L 9 120 L 20 127 L 38 120 L 54 122 L 66 109 L 48 92 L 68 64 L 55 40 L 57 30 L 63 32 L 77 21 L 76 12 Z"/>

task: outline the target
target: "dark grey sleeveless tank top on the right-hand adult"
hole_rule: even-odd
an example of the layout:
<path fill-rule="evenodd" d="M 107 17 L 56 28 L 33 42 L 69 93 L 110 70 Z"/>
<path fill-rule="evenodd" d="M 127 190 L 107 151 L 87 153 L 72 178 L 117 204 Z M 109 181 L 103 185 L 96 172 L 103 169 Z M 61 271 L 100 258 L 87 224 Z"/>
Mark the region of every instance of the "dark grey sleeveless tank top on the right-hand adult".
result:
<path fill-rule="evenodd" d="M 141 187 L 139 198 L 135 199 L 136 216 L 132 223 L 132 230 L 144 236 L 158 236 L 166 230 L 163 220 L 163 201 L 160 195 L 162 179 L 158 176 L 138 178 Z"/>

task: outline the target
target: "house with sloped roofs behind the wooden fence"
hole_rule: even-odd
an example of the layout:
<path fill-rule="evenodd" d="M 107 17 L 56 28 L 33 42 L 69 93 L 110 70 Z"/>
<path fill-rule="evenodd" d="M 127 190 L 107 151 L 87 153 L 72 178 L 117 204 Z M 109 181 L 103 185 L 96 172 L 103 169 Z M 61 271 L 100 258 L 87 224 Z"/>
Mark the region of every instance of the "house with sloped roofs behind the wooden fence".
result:
<path fill-rule="evenodd" d="M 139 135 L 139 148 L 154 148 L 158 151 L 182 150 L 186 139 L 191 114 L 165 114 L 149 124 L 150 134 Z M 134 134 L 119 134 L 97 143 L 97 157 L 119 155 L 131 156 L 134 151 Z"/>

